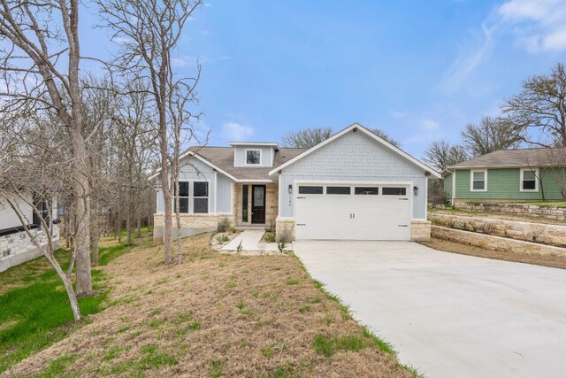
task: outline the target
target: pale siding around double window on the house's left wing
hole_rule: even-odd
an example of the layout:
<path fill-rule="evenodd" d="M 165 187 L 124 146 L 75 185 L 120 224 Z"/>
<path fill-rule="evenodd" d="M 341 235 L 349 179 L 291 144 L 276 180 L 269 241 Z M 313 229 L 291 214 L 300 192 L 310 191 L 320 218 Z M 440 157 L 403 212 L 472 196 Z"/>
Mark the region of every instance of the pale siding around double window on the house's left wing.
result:
<path fill-rule="evenodd" d="M 229 178 L 227 178 L 224 174 L 214 172 L 214 169 L 211 166 L 204 164 L 196 158 L 189 158 L 188 160 L 185 159 L 182 164 L 183 166 L 180 168 L 179 181 L 209 181 L 210 213 L 231 211 L 232 181 Z M 161 176 L 157 176 L 157 182 L 159 184 L 161 183 Z M 217 207 L 216 209 L 215 206 Z M 157 189 L 156 212 L 164 212 L 164 196 L 161 186 Z"/>

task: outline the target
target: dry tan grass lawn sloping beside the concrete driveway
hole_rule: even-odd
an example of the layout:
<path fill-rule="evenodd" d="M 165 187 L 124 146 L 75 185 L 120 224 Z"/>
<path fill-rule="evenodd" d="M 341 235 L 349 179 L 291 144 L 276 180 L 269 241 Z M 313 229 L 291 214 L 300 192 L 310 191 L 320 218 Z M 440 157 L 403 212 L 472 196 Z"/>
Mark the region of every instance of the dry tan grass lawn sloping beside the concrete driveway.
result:
<path fill-rule="evenodd" d="M 319 289 L 294 256 L 184 243 L 116 258 L 107 308 L 89 324 L 5 372 L 8 376 L 410 377 L 379 340 Z"/>

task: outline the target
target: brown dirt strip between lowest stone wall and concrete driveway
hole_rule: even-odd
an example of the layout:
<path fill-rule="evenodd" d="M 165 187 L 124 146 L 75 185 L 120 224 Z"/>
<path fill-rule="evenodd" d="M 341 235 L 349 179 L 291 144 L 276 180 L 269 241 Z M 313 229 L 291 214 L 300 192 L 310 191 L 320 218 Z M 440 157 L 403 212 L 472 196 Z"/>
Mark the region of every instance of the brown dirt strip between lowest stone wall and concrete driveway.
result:
<path fill-rule="evenodd" d="M 435 237 L 432 237 L 430 242 L 419 243 L 422 243 L 427 247 L 431 247 L 438 251 L 477 256 L 479 258 L 493 258 L 497 260 L 566 269 L 566 258 L 560 256 L 542 256 L 538 254 L 528 255 L 509 251 L 489 251 L 473 245 L 442 240 Z"/>

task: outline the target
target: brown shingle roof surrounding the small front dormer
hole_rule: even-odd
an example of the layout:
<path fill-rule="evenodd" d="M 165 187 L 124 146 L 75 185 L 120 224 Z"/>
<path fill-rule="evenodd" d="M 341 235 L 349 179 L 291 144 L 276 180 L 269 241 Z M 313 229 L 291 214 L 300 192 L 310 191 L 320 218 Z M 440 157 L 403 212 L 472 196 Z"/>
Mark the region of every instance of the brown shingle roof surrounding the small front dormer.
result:
<path fill-rule="evenodd" d="M 201 158 L 210 161 L 213 166 L 218 166 L 227 174 L 232 174 L 239 180 L 270 180 L 269 171 L 273 168 L 233 166 L 233 147 L 193 147 L 192 150 Z M 275 152 L 273 166 L 280 166 L 287 160 L 294 158 L 306 149 L 281 148 Z"/>

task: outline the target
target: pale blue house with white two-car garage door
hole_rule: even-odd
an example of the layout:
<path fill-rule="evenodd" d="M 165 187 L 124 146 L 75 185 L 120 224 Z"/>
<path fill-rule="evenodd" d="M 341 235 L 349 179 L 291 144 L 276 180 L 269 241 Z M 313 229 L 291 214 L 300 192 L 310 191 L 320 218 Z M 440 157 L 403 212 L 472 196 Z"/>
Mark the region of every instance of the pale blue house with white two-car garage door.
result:
<path fill-rule="evenodd" d="M 274 223 L 297 240 L 418 240 L 430 237 L 427 178 L 440 174 L 355 123 L 308 149 L 229 143 L 181 156 L 181 236 Z M 157 180 L 154 243 L 163 243 Z"/>

